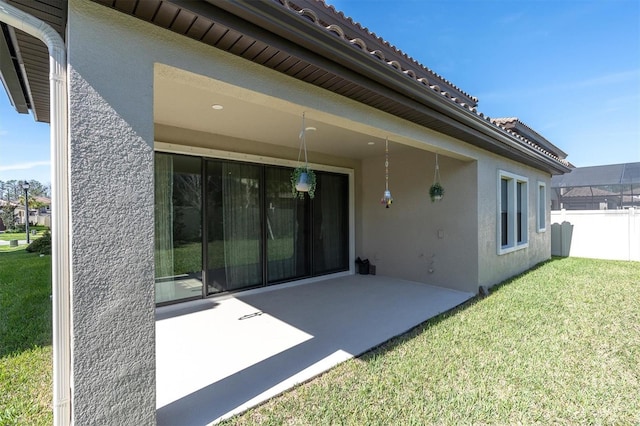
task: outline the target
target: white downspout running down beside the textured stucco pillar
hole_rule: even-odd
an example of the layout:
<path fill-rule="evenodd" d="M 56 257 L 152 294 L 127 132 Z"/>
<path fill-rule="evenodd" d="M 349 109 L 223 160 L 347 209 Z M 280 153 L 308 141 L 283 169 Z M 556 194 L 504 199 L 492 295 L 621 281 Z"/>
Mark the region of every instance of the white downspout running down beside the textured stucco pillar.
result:
<path fill-rule="evenodd" d="M 49 50 L 51 128 L 51 278 L 53 293 L 53 421 L 71 424 L 71 243 L 67 59 L 62 37 L 38 18 L 0 0 L 0 22 L 41 40 Z"/>

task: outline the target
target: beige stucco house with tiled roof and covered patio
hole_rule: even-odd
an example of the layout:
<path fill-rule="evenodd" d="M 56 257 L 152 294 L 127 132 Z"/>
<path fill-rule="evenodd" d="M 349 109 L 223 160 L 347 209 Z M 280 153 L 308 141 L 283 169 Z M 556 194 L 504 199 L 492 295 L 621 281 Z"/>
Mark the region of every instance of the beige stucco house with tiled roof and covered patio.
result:
<path fill-rule="evenodd" d="M 49 21 L 68 55 L 53 214 L 68 195 L 69 249 L 66 218 L 53 236 L 72 310 L 54 335 L 73 349 L 71 372 L 54 369 L 57 418 L 70 404 L 77 424 L 153 422 L 154 309 L 185 287 L 205 298 L 353 274 L 361 257 L 477 292 L 551 256 L 547 188 L 566 154 L 322 2 L 9 3 Z M 50 102 L 46 49 L 29 46 L 42 43 L 3 25 L 3 81 L 19 112 L 48 121 L 65 105 Z M 289 190 L 303 114 L 313 201 Z M 446 194 L 432 203 L 436 159 Z"/>

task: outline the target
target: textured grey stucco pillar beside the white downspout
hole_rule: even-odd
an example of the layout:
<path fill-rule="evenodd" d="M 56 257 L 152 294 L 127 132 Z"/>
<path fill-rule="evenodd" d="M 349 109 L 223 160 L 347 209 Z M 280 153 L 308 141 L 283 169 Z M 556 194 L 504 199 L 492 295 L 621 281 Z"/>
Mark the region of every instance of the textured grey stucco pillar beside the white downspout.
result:
<path fill-rule="evenodd" d="M 67 38 L 72 416 L 154 424 L 153 67 L 87 3 L 70 2 Z"/>

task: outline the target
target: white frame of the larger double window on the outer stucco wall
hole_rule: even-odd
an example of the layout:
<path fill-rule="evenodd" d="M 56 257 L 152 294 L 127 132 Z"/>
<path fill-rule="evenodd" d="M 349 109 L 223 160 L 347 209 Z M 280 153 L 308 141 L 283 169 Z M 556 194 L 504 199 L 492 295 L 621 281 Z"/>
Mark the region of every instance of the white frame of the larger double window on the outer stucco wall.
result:
<path fill-rule="evenodd" d="M 502 244 L 502 181 L 507 182 L 507 244 Z M 498 170 L 497 185 L 497 238 L 496 245 L 498 255 L 511 253 L 516 250 L 522 250 L 529 247 L 529 179 L 516 175 L 505 170 Z M 518 205 L 517 190 L 518 184 L 522 184 L 522 194 L 520 197 L 520 205 Z M 520 207 L 520 229 L 522 239 L 518 242 L 518 207 Z"/>

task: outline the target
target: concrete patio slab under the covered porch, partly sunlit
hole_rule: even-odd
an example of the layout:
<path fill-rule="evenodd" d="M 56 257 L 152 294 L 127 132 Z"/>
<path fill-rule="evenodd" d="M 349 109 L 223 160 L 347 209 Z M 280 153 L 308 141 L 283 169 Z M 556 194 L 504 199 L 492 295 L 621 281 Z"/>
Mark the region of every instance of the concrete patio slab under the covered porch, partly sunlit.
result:
<path fill-rule="evenodd" d="M 158 308 L 158 425 L 242 412 L 474 295 L 373 275 Z"/>

